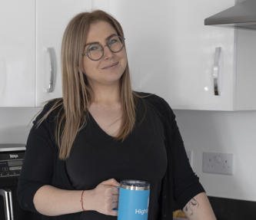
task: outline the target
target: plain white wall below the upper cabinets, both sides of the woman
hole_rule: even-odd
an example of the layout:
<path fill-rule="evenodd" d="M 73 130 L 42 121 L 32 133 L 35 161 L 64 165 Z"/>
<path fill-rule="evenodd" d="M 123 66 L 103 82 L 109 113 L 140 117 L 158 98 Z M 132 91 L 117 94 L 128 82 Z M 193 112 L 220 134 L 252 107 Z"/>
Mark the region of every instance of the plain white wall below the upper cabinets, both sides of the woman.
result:
<path fill-rule="evenodd" d="M 0 108 L 0 143 L 25 143 L 40 108 Z M 208 195 L 256 201 L 256 111 L 175 110 L 192 166 Z M 234 175 L 204 173 L 203 152 L 234 153 Z"/>

